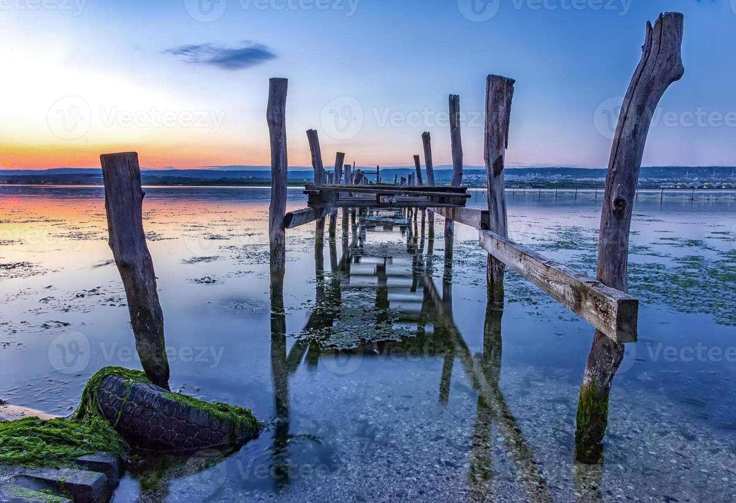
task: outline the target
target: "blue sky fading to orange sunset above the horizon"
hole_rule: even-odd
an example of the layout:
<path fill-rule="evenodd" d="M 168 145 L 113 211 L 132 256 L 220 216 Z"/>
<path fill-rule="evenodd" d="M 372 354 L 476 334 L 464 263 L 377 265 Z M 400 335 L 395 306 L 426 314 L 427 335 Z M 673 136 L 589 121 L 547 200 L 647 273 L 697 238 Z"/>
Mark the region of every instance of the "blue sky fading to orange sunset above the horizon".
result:
<path fill-rule="evenodd" d="M 340 150 L 409 165 L 425 130 L 449 163 L 450 93 L 480 165 L 489 73 L 517 81 L 510 166 L 606 166 L 645 23 L 666 10 L 684 13 L 685 74 L 644 164 L 736 164 L 736 0 L 44 1 L 0 0 L 6 168 L 113 150 L 152 167 L 267 164 L 269 77 L 289 78 L 293 165 L 313 127 L 328 164 Z"/>

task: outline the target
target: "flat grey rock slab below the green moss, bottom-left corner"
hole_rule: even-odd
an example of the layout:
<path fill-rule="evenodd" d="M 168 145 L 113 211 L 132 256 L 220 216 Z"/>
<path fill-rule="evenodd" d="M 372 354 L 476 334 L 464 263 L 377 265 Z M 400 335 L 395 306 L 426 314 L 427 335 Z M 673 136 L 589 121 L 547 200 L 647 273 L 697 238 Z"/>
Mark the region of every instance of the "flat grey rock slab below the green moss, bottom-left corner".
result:
<path fill-rule="evenodd" d="M 75 468 L 34 468 L 11 477 L 10 483 L 31 490 L 49 490 L 57 496 L 71 496 L 75 503 L 110 500 L 107 476 Z"/>

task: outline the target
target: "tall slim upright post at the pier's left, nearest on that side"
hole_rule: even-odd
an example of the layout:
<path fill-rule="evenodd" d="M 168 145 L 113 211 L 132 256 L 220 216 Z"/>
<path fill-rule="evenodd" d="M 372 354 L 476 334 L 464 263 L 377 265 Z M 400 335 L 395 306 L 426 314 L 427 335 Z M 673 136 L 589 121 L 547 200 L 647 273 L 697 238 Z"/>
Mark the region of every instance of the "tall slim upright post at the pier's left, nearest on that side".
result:
<path fill-rule="evenodd" d="M 271 143 L 271 203 L 269 205 L 269 247 L 271 250 L 271 287 L 278 286 L 277 272 L 286 267 L 286 244 L 283 218 L 286 215 L 286 89 L 289 81 L 269 80 L 269 105 L 266 122 Z M 283 282 L 281 282 L 283 284 Z"/>

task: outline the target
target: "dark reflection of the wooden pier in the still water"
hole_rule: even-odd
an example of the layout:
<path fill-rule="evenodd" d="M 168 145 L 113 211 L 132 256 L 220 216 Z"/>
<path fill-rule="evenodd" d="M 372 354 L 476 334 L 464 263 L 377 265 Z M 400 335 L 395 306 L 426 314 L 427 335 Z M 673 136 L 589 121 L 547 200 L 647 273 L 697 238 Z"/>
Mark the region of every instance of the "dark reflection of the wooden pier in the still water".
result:
<path fill-rule="evenodd" d="M 342 353 L 344 357 L 359 353 L 361 358 L 409 354 L 412 351 L 425 356 L 444 356 L 442 373 L 438 376 L 439 403 L 447 404 L 449 399 L 451 373 L 456 359 L 459 360 L 471 386 L 478 393 L 473 449 L 469 453 L 468 483 L 471 493 L 478 498 L 484 498 L 492 491 L 493 440 L 490 428 L 495 424 L 500 436 L 503 437 L 514 474 L 526 493 L 527 501 L 551 501 L 551 493 L 534 461 L 531 447 L 523 437 L 498 386 L 501 371 L 503 311 L 489 304 L 486 309 L 483 348 L 482 351 L 473 353 L 453 319 L 450 276 L 444 275 L 442 286 L 444 294 L 440 294 L 434 278 L 428 273 L 428 269 L 431 269 L 431 260 L 424 253 L 425 243 L 427 250 L 431 250 L 434 244 L 425 242 L 423 232 L 418 237 L 407 233 L 410 241 L 417 239 L 421 243 L 420 246 L 412 248 L 408 258 L 364 256 L 361 247 L 369 225 L 371 224 L 363 217 L 358 218 L 357 228 L 353 231 L 353 241 L 342 250 L 339 260 L 336 242 L 330 240 L 330 271 L 316 271 L 318 281 L 315 308 L 302 332 L 314 328 L 331 328 L 339 323 L 344 309 L 342 294 L 348 289 L 359 289 L 362 297 L 375 302 L 376 325 L 412 324 L 416 328 L 416 335 L 400 341 L 358 342 L 352 348 L 339 351 L 322 348 L 318 342 L 297 340 L 287 353 L 283 345 L 285 339 L 281 337 L 281 333 L 275 334 L 277 337 L 272 339 L 274 348 L 272 355 L 275 355 L 276 359 L 272 364 L 277 390 L 277 415 L 280 418 L 279 424 L 286 429 L 280 432 L 281 440 L 275 441 L 275 453 L 283 452 L 285 448 L 283 439 L 289 437 L 288 376 L 300 365 L 316 370 L 320 358 L 334 358 L 337 353 Z M 358 236 L 364 237 L 360 239 Z M 319 238 L 317 241 L 319 242 Z M 319 263 L 319 260 L 316 262 Z M 451 264 L 448 267 L 451 267 Z M 278 300 L 276 306 L 280 306 Z M 390 321 L 382 317 L 386 309 L 392 309 L 397 314 Z M 424 330 L 428 324 L 434 326 L 432 333 Z M 280 320 L 275 328 L 286 333 L 285 327 L 280 326 Z"/>

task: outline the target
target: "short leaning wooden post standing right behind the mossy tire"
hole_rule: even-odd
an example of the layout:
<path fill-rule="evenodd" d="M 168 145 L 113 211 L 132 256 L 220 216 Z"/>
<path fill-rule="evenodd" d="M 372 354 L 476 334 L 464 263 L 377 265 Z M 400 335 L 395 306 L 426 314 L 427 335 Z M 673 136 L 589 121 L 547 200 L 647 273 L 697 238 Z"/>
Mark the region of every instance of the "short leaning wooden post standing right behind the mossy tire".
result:
<path fill-rule="evenodd" d="M 109 244 L 123 280 L 135 336 L 135 351 L 146 377 L 169 390 L 169 358 L 163 339 L 163 312 L 156 290 L 156 273 L 143 231 L 143 197 L 138 154 L 99 156 L 105 181 L 105 213 Z"/>

